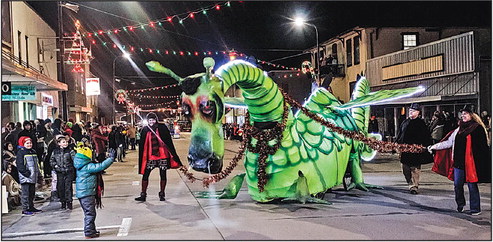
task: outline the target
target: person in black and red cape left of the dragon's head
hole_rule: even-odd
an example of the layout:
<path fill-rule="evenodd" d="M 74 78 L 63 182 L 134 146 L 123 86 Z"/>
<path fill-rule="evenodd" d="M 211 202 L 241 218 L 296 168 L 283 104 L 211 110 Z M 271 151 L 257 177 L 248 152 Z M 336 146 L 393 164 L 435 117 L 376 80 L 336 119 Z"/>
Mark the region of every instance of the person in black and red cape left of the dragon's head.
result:
<path fill-rule="evenodd" d="M 135 200 L 141 202 L 146 200 L 149 175 L 154 168 L 159 168 L 161 190 L 158 195 L 160 201 L 165 201 L 166 170 L 179 168 L 182 164 L 168 127 L 158 123 L 158 117 L 153 112 L 148 113 L 146 119 L 148 125 L 140 132 L 139 141 L 139 174 L 143 175 L 142 191 Z"/>

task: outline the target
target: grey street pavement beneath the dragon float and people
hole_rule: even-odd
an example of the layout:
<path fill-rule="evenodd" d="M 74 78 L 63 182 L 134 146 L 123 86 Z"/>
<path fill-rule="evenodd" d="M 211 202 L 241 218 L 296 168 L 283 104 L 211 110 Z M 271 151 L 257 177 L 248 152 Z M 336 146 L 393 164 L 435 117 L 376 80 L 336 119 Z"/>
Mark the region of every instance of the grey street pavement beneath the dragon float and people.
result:
<path fill-rule="evenodd" d="M 189 133 L 174 143 L 186 163 Z M 224 160 L 237 152 L 238 141 L 226 141 Z M 364 163 L 366 183 L 382 186 L 369 192 L 338 186 L 325 200 L 331 205 L 253 201 L 246 185 L 232 200 L 199 199 L 194 191 L 221 190 L 224 179 L 209 188 L 191 183 L 177 170 L 168 171 L 166 201 L 158 198 L 159 172 L 153 171 L 146 202 L 136 202 L 141 175 L 137 151 L 114 163 L 103 175 L 103 209 L 97 210 L 96 240 L 491 240 L 491 184 L 480 184 L 482 214 L 458 213 L 453 182 L 424 165 L 420 193 L 409 194 L 396 154 L 381 154 Z M 224 165 L 226 166 L 227 163 Z M 242 173 L 239 165 L 230 177 Z M 195 176 L 204 174 L 195 172 Z M 74 198 L 73 210 L 44 201 L 34 216 L 20 208 L 2 215 L 2 240 L 83 240 L 83 213 Z"/>

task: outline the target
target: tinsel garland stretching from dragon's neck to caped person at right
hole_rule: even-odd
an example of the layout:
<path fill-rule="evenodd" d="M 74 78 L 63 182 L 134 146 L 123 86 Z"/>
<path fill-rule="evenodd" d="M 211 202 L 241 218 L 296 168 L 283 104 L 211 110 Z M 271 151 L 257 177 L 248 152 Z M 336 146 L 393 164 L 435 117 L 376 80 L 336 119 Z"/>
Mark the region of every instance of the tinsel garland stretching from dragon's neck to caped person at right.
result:
<path fill-rule="evenodd" d="M 336 126 L 335 124 L 330 123 L 329 121 L 321 118 L 315 113 L 312 113 L 310 110 L 307 108 L 303 107 L 300 103 L 298 103 L 296 100 L 292 99 L 290 96 L 288 96 L 281 88 L 279 88 L 281 91 L 282 95 L 284 96 L 284 99 L 293 107 L 296 107 L 300 109 L 306 116 L 310 117 L 311 119 L 319 122 L 323 126 L 331 129 L 332 131 L 341 134 L 345 137 L 351 138 L 353 140 L 359 140 L 366 145 L 368 145 L 370 148 L 381 152 L 381 153 L 389 153 L 392 151 L 399 151 L 399 152 L 408 152 L 408 153 L 423 153 L 426 148 L 422 145 L 417 145 L 417 144 L 397 144 L 394 142 L 387 142 L 387 141 L 381 141 L 377 140 L 371 137 L 367 137 L 365 134 L 358 132 L 358 131 L 351 131 L 351 130 L 345 130 L 341 127 Z"/>

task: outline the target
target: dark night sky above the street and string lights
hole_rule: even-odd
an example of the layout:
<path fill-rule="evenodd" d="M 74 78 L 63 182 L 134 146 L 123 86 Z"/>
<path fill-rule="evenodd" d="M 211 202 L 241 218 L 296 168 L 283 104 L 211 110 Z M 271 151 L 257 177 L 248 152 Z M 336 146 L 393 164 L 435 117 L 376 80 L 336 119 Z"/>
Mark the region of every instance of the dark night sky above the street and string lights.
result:
<path fill-rule="evenodd" d="M 57 30 L 56 2 L 28 3 Z M 95 32 L 134 25 L 137 22 L 147 24 L 152 20 L 224 2 L 92 1 L 77 3 L 80 4 L 78 13 L 64 10 L 63 20 L 66 32 L 73 29 L 71 20 L 74 18 L 81 21 L 84 30 Z M 355 26 L 491 27 L 491 1 L 242 1 L 241 3 L 231 2 L 230 7 L 222 6 L 220 10 L 209 10 L 207 16 L 197 13 L 195 19 L 186 19 L 183 25 L 174 19 L 173 24 L 165 22 L 162 27 L 146 26 L 146 30 L 139 29 L 133 33 L 121 32 L 110 36 L 116 37 L 117 41 L 127 46 L 184 51 L 223 51 L 234 48 L 248 56 L 271 61 L 299 54 L 301 53 L 299 50 L 315 45 L 313 28 L 305 27 L 300 31 L 290 24 L 288 18 L 297 13 L 305 14 L 310 22 L 318 27 L 320 42 Z M 89 39 L 86 40 L 86 45 L 89 45 Z M 106 34 L 101 41 L 113 43 Z M 102 79 L 102 88 L 107 90 L 106 85 L 111 85 L 112 80 L 112 62 L 115 56 L 121 55 L 121 51 L 113 49 L 112 44 L 105 47 L 99 41 L 93 45 L 92 50 L 95 59 L 91 63 L 91 71 Z M 226 61 L 222 55 L 213 57 L 216 63 Z M 160 55 L 140 51 L 132 54 L 137 67 L 148 76 L 156 76 L 156 74 L 146 70 L 144 66 L 146 61 L 158 60 L 178 75 L 186 76 L 203 71 L 202 58 L 203 55 L 201 57 L 166 56 L 162 53 Z M 306 55 L 275 63 L 299 68 L 300 63 L 305 59 L 308 59 Z M 117 76 L 138 75 L 138 72 L 123 59 L 117 60 L 116 66 Z M 122 79 L 121 85 L 129 89 L 173 83 L 171 80 L 156 78 Z M 132 81 L 136 82 L 136 85 L 130 85 Z M 168 92 L 173 92 L 173 90 L 170 89 Z"/>

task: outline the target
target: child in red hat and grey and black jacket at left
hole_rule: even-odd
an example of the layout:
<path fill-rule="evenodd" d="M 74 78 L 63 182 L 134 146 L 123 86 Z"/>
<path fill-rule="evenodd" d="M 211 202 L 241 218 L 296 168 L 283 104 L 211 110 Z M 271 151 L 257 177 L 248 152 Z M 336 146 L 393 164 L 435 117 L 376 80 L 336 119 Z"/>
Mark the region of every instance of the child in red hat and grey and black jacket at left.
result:
<path fill-rule="evenodd" d="M 21 136 L 18 141 L 17 170 L 21 183 L 21 203 L 23 215 L 34 215 L 42 212 L 34 208 L 34 196 L 36 181 L 40 175 L 38 167 L 38 156 L 33 149 L 33 140 L 28 136 Z"/>

